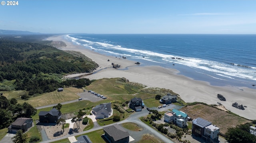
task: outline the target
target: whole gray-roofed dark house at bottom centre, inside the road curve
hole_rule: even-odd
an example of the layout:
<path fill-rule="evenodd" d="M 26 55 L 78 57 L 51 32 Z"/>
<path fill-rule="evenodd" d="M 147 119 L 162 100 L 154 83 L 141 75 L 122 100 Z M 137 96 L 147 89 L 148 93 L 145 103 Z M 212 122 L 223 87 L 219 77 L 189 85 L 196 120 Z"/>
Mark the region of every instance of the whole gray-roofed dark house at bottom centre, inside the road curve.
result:
<path fill-rule="evenodd" d="M 104 137 L 109 143 L 128 143 L 129 133 L 118 124 L 103 127 Z"/>

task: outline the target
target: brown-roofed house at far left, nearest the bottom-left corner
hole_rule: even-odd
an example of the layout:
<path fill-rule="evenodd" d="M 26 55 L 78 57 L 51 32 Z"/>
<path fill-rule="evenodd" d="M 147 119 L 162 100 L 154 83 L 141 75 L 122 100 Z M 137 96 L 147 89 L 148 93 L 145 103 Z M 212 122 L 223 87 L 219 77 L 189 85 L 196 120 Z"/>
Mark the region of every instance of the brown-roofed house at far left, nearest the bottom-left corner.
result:
<path fill-rule="evenodd" d="M 9 133 L 16 133 L 18 130 L 23 132 L 28 131 L 28 128 L 32 127 L 33 119 L 31 118 L 17 118 L 9 127 Z"/>

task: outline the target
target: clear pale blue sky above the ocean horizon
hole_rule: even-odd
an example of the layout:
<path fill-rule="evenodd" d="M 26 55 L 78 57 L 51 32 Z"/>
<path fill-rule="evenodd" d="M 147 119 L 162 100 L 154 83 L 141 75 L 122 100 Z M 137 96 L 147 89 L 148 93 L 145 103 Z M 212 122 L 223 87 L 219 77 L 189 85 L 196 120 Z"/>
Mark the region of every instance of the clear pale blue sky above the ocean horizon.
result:
<path fill-rule="evenodd" d="M 0 29 L 40 33 L 256 34 L 256 0 L 19 0 L 18 3 L 18 6 L 0 5 Z"/>

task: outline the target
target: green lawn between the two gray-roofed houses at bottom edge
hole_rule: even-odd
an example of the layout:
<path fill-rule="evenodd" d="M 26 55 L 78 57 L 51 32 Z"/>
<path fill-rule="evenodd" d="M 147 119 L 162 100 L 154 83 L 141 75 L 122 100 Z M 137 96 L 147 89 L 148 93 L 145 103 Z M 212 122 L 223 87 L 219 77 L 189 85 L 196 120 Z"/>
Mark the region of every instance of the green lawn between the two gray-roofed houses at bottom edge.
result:
<path fill-rule="evenodd" d="M 92 143 L 106 143 L 106 141 L 104 141 L 104 139 L 102 138 L 103 133 L 104 133 L 103 129 L 99 129 L 97 131 L 92 131 L 90 133 L 86 133 L 83 135 L 88 135 Z M 77 138 L 79 136 L 75 136 L 75 137 Z"/>

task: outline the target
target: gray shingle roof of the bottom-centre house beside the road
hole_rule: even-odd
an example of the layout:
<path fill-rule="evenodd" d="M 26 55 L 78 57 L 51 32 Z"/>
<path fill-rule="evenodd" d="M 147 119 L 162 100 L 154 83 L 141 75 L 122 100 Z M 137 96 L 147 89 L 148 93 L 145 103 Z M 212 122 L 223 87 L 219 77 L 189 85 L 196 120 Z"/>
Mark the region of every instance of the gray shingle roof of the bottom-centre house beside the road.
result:
<path fill-rule="evenodd" d="M 114 124 L 108 127 L 103 127 L 103 130 L 108 133 L 111 137 L 113 137 L 114 141 L 118 141 L 119 139 L 123 139 L 125 137 L 129 137 L 128 131 L 122 128 L 118 124 Z"/>

